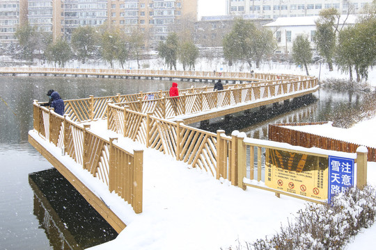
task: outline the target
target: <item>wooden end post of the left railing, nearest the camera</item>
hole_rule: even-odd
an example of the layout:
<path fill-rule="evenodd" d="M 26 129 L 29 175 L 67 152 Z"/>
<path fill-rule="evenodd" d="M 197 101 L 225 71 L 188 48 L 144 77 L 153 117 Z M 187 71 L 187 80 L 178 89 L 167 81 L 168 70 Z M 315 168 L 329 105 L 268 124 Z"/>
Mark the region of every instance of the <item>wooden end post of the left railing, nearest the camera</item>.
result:
<path fill-rule="evenodd" d="M 143 199 L 143 150 L 134 150 L 133 153 L 133 167 L 134 167 L 134 193 L 132 206 L 135 213 L 142 213 L 142 199 Z"/>

